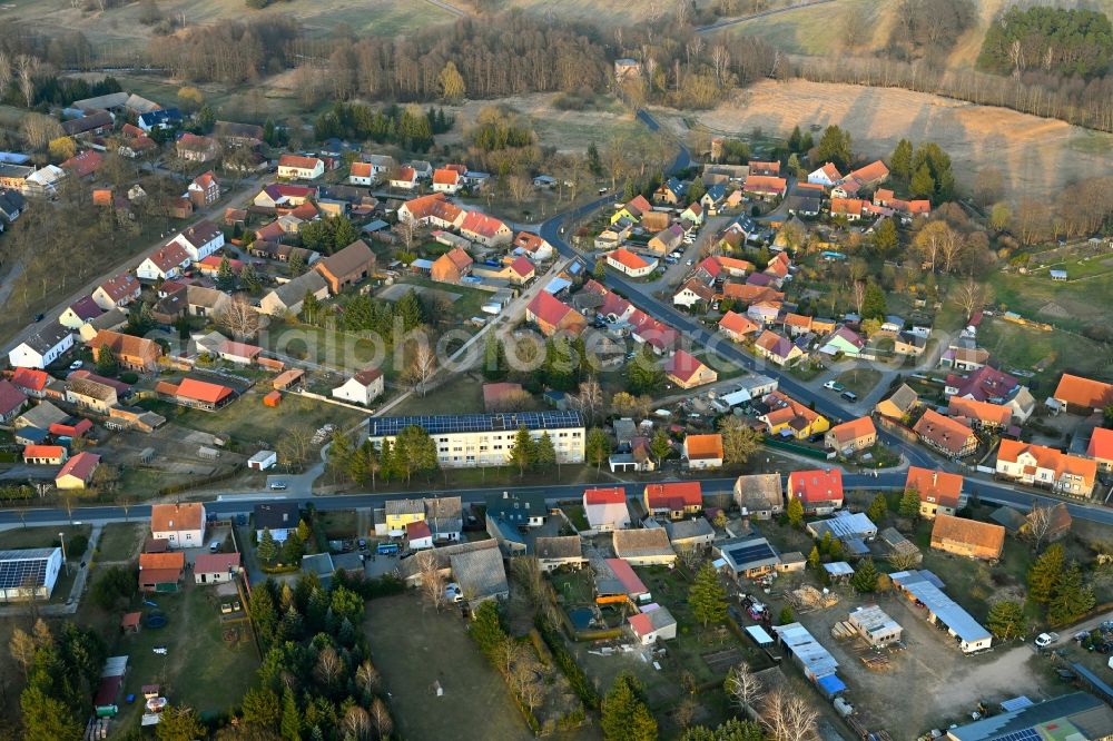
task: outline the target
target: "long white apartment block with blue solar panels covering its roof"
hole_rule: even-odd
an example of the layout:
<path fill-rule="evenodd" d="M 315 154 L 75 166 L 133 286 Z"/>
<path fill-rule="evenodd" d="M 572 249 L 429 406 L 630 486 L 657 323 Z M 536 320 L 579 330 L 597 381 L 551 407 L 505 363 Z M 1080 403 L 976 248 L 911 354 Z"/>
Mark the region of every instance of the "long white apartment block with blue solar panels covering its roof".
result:
<path fill-rule="evenodd" d="M 372 417 L 367 435 L 382 448 L 406 427 L 421 427 L 436 443 L 442 468 L 504 466 L 510 462 L 518 431 L 534 439 L 549 434 L 560 463 L 583 463 L 584 426 L 579 412 L 505 412 L 413 417 Z"/>

